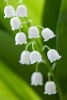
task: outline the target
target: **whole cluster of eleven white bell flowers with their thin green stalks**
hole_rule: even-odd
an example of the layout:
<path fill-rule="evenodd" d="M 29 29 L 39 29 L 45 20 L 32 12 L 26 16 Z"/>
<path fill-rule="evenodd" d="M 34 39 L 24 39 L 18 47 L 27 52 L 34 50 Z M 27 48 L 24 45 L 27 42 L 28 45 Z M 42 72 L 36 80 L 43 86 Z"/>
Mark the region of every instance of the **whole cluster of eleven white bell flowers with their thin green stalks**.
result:
<path fill-rule="evenodd" d="M 20 5 L 17 7 L 15 10 L 11 5 L 8 4 L 7 1 L 7 6 L 4 8 L 4 18 L 11 18 L 10 19 L 10 25 L 12 30 L 18 30 L 19 32 L 15 36 L 15 45 L 22 45 L 26 44 L 25 50 L 22 51 L 19 63 L 21 64 L 34 64 L 36 63 L 36 71 L 32 74 L 31 76 L 31 85 L 43 85 L 43 76 L 42 74 L 38 71 L 38 65 L 39 63 L 45 62 L 46 59 L 42 57 L 42 53 L 39 52 L 38 50 L 35 50 L 34 45 L 36 45 L 36 39 L 41 37 L 44 39 L 44 42 L 54 38 L 56 35 L 54 35 L 54 32 L 49 29 L 49 28 L 44 28 L 42 26 L 34 26 L 31 25 L 29 26 L 28 29 L 28 38 L 29 39 L 34 39 L 32 42 L 27 42 L 27 36 L 24 32 L 21 31 L 23 27 L 23 22 L 21 21 L 20 17 L 23 17 L 26 19 L 26 24 L 29 22 L 31 23 L 32 21 L 28 20 L 28 13 L 27 13 L 27 8 L 25 5 L 22 4 L 22 0 L 20 0 Z M 41 36 L 40 36 L 40 31 L 39 28 L 41 28 Z M 32 51 L 30 52 L 28 50 L 28 47 L 32 45 Z M 41 48 L 41 47 L 40 47 Z M 48 46 L 44 45 L 42 50 L 44 52 L 44 49 L 47 48 L 47 60 L 50 61 L 50 63 L 55 62 L 56 60 L 59 60 L 61 58 L 61 55 L 55 50 L 55 49 L 50 49 Z M 49 62 L 48 61 L 48 62 Z M 44 64 L 45 64 L 44 63 Z M 44 94 L 56 94 L 56 85 L 54 81 L 51 81 L 50 76 L 52 74 L 48 74 L 48 81 L 45 84 L 45 92 Z"/>

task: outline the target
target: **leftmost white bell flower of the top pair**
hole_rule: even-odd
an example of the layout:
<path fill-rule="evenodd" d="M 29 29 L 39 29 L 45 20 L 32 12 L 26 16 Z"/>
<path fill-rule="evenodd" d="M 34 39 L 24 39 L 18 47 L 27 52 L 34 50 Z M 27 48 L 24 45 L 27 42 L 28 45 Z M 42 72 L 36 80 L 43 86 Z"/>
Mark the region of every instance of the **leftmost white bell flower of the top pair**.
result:
<path fill-rule="evenodd" d="M 11 5 L 6 6 L 4 8 L 4 14 L 5 14 L 4 18 L 11 18 L 15 16 L 15 10 Z"/>

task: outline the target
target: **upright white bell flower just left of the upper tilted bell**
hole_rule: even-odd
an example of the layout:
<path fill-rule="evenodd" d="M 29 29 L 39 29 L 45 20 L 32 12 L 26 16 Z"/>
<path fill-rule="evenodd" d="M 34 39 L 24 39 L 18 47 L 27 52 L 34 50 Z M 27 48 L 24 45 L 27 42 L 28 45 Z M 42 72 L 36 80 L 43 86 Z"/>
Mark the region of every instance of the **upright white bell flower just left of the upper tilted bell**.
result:
<path fill-rule="evenodd" d="M 28 30 L 29 38 L 38 38 L 39 36 L 39 30 L 36 26 L 31 26 Z"/>

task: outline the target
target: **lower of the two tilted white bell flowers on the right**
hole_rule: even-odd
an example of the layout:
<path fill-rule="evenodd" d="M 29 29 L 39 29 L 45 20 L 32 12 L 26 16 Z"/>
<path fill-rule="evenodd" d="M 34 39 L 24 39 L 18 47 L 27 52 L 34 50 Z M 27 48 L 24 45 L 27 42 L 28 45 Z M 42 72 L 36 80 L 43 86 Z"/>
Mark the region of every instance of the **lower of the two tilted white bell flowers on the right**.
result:
<path fill-rule="evenodd" d="M 54 49 L 50 49 L 47 52 L 47 57 L 48 57 L 48 59 L 50 60 L 51 63 L 56 61 L 56 60 L 59 60 L 61 58 L 61 56 L 58 54 L 58 52 Z"/>

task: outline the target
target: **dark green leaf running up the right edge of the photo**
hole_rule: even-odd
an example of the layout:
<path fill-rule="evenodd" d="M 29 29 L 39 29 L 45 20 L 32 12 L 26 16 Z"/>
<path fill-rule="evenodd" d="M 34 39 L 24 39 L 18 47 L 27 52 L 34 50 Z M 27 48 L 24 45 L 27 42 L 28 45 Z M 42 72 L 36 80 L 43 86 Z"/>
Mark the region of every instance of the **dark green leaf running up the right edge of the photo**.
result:
<path fill-rule="evenodd" d="M 67 100 L 67 0 L 62 0 L 56 40 L 57 50 L 62 55 L 56 66 L 56 77 L 62 90 L 61 100 Z"/>

